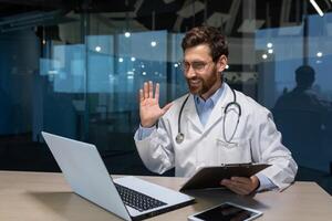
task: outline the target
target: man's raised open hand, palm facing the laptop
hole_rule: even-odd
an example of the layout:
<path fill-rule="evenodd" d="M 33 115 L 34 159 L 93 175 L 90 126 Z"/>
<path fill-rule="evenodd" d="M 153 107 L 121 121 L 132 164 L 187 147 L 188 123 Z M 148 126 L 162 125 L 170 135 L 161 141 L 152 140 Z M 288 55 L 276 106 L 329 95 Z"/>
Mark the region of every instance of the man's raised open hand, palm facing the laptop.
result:
<path fill-rule="evenodd" d="M 154 94 L 153 82 L 145 82 L 139 90 L 139 117 L 143 127 L 152 127 L 169 109 L 172 103 L 159 107 L 159 84 L 156 84 Z"/>

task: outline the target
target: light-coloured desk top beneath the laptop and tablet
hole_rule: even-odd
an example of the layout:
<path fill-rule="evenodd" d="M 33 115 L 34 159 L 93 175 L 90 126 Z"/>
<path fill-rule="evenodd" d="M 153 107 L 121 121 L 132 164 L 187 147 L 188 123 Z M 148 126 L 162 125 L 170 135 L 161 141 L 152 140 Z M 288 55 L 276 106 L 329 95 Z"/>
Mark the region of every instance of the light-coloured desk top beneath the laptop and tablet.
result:
<path fill-rule="evenodd" d="M 141 177 L 179 189 L 185 178 Z M 261 210 L 258 220 L 332 220 L 332 198 L 314 182 L 295 182 L 283 192 L 241 197 L 229 191 L 196 192 L 197 203 L 149 220 L 187 220 L 189 214 L 222 201 Z M 2 221 L 102 221 L 120 220 L 73 193 L 61 173 L 0 171 L 0 220 Z"/>

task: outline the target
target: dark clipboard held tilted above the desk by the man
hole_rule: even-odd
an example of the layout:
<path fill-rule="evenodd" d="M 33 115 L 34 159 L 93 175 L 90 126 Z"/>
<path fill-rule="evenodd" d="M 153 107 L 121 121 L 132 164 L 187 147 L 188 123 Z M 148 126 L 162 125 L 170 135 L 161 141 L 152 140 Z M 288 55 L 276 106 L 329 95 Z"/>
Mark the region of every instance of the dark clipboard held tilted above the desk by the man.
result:
<path fill-rule="evenodd" d="M 251 177 L 270 167 L 267 164 L 231 164 L 200 168 L 179 191 L 222 188 L 220 181 L 230 177 Z"/>

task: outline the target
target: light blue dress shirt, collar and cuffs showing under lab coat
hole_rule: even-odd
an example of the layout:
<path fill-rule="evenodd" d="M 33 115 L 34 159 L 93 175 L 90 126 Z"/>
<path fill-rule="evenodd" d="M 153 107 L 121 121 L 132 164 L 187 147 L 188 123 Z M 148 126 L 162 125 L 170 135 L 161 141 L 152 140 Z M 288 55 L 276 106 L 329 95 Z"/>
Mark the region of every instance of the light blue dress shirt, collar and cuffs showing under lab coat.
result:
<path fill-rule="evenodd" d="M 219 98 L 224 98 L 224 96 L 225 96 L 224 91 L 225 91 L 225 84 L 222 84 L 221 87 L 219 90 L 217 90 L 215 92 L 215 94 L 212 94 L 207 101 L 204 101 L 201 97 L 194 95 L 196 110 L 197 110 L 198 117 L 199 117 L 203 126 L 206 125 L 206 123 L 207 123 L 215 105 L 219 101 Z M 142 140 L 142 139 L 148 137 L 154 131 L 155 128 L 156 128 L 156 126 L 146 128 L 146 127 L 142 127 L 139 125 L 137 138 L 139 140 Z M 273 182 L 268 177 L 266 177 L 261 173 L 257 173 L 256 176 L 260 182 L 260 186 L 257 189 L 257 191 L 270 190 L 270 189 L 277 188 L 276 185 L 273 185 Z"/>

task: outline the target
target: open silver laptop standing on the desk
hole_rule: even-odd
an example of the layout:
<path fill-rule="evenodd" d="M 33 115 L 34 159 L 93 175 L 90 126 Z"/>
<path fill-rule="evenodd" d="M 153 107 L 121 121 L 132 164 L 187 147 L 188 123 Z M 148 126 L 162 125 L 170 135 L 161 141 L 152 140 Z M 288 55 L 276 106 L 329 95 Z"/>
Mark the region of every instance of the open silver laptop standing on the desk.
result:
<path fill-rule="evenodd" d="M 94 145 L 42 131 L 72 190 L 124 220 L 142 220 L 194 198 L 135 177 L 112 179 Z"/>

